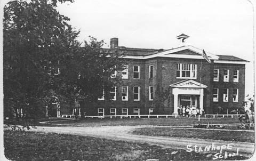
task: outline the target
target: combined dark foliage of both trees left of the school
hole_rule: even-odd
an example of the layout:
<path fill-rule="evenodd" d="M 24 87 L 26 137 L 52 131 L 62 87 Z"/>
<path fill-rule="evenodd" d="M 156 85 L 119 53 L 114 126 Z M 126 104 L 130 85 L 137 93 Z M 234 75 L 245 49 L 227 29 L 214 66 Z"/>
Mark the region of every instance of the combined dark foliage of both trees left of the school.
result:
<path fill-rule="evenodd" d="M 102 52 L 103 41 L 81 47 L 79 31 L 57 10 L 57 2 L 11 1 L 4 6 L 4 114 L 22 108 L 27 118 L 44 115 L 52 96 L 62 102 L 95 100 L 108 91 L 117 63 L 116 52 Z M 105 72 L 103 72 L 103 70 Z M 81 78 L 78 79 L 78 74 Z"/>

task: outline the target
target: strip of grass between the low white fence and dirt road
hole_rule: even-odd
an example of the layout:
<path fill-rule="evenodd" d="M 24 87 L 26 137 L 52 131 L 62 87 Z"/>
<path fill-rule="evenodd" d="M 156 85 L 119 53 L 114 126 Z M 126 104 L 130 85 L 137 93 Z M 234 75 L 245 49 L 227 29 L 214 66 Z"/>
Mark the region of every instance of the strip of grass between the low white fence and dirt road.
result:
<path fill-rule="evenodd" d="M 192 125 L 194 124 L 228 124 L 238 123 L 238 118 L 103 118 L 103 119 L 76 119 L 53 122 L 55 124 L 63 124 L 70 126 L 137 126 L 137 125 L 154 125 L 154 126 L 169 126 L 169 125 Z"/>

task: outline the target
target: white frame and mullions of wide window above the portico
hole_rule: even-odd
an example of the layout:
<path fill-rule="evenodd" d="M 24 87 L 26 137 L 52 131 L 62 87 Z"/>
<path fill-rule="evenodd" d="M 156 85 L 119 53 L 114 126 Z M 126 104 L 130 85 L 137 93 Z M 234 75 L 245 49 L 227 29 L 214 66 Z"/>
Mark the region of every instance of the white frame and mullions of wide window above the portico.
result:
<path fill-rule="evenodd" d="M 186 67 L 189 67 L 189 70 L 182 70 L 182 65 Z M 187 66 L 188 65 L 188 66 Z M 177 68 L 176 71 L 179 71 L 180 72 L 180 76 L 177 77 L 176 75 L 176 78 L 178 79 L 184 79 L 184 78 L 187 78 L 187 79 L 196 79 L 197 78 L 197 65 L 196 64 L 189 64 L 189 63 L 178 63 L 177 64 Z M 194 69 L 194 70 L 193 70 Z M 189 77 L 182 77 L 182 71 L 189 71 Z M 195 77 L 192 77 L 193 75 L 193 72 L 195 72 Z"/>

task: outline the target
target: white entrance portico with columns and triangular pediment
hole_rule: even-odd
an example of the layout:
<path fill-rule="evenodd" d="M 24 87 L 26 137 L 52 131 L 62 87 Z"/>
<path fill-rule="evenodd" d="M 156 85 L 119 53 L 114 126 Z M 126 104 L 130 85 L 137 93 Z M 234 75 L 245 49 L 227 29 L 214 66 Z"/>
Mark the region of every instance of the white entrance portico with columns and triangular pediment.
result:
<path fill-rule="evenodd" d="M 179 106 L 190 106 L 194 105 L 198 107 L 199 101 L 199 109 L 202 112 L 203 110 L 203 98 L 204 98 L 204 88 L 207 86 L 193 81 L 193 80 L 183 80 L 170 85 L 172 87 L 172 94 L 174 96 L 174 111 L 173 114 L 178 114 Z M 190 101 L 190 102 L 189 102 Z M 183 104 L 181 104 L 183 103 Z M 185 106 L 186 107 L 186 106 Z"/>

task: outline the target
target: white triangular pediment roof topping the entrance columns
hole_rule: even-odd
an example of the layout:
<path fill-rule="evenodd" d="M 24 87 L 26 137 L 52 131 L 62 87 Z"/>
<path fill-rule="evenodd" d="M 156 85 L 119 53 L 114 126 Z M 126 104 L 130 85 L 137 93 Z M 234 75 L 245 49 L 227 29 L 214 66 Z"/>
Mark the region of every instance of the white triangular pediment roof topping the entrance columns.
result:
<path fill-rule="evenodd" d="M 202 83 L 196 82 L 191 79 L 185 79 L 183 81 L 170 84 L 171 87 L 179 87 L 179 88 L 206 88 L 207 85 L 204 85 Z"/>

